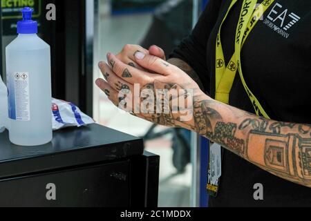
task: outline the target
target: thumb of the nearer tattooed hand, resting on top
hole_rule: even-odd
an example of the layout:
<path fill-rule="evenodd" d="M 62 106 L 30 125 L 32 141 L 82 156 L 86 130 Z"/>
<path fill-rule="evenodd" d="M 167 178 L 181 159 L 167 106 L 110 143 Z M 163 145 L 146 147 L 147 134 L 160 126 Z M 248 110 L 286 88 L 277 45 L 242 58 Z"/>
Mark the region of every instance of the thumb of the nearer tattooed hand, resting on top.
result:
<path fill-rule="evenodd" d="M 138 65 L 146 68 L 147 70 L 154 71 L 161 75 L 168 75 L 170 64 L 167 61 L 160 59 L 159 57 L 146 54 L 144 52 L 135 52 L 135 61 Z"/>

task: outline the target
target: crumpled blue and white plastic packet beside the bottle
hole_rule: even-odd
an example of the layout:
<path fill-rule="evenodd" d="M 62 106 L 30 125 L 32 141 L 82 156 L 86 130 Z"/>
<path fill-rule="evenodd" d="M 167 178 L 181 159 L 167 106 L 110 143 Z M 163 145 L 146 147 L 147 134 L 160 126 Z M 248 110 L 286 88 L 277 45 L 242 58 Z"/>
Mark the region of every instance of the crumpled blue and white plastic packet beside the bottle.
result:
<path fill-rule="evenodd" d="M 52 99 L 53 130 L 69 126 L 85 126 L 95 123 L 91 117 L 82 113 L 80 109 L 70 102 Z"/>

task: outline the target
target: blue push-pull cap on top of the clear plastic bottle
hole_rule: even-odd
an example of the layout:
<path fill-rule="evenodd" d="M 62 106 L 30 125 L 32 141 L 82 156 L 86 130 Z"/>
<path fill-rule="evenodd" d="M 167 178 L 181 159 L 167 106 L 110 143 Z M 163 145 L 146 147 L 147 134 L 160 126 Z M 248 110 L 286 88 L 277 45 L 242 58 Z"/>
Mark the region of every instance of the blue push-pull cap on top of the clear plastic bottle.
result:
<path fill-rule="evenodd" d="M 17 33 L 18 34 L 37 34 L 38 32 L 38 23 L 33 21 L 32 17 L 32 8 L 25 7 L 21 10 L 23 15 L 23 21 L 17 22 Z"/>

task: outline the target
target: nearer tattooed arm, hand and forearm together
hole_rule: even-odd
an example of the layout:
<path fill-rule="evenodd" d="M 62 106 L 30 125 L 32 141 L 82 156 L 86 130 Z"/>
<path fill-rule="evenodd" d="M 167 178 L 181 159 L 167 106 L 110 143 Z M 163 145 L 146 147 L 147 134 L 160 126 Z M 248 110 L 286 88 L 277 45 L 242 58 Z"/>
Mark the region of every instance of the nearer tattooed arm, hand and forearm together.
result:
<path fill-rule="evenodd" d="M 196 131 L 265 171 L 311 187 L 310 124 L 264 119 L 217 102 L 183 70 L 146 50 L 132 58 L 135 67 L 112 54 L 109 64 L 99 64 L 107 81 L 96 84 L 115 105 L 156 124 Z"/>

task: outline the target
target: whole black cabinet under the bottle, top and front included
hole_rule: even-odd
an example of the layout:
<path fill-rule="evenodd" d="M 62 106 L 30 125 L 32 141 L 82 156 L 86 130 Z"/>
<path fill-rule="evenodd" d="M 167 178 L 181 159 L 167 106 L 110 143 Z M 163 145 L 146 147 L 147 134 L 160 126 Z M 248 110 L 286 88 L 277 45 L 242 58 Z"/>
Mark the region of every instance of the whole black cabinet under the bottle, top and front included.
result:
<path fill-rule="evenodd" d="M 36 147 L 2 133 L 0 206 L 157 206 L 159 160 L 141 139 L 97 124 Z"/>

